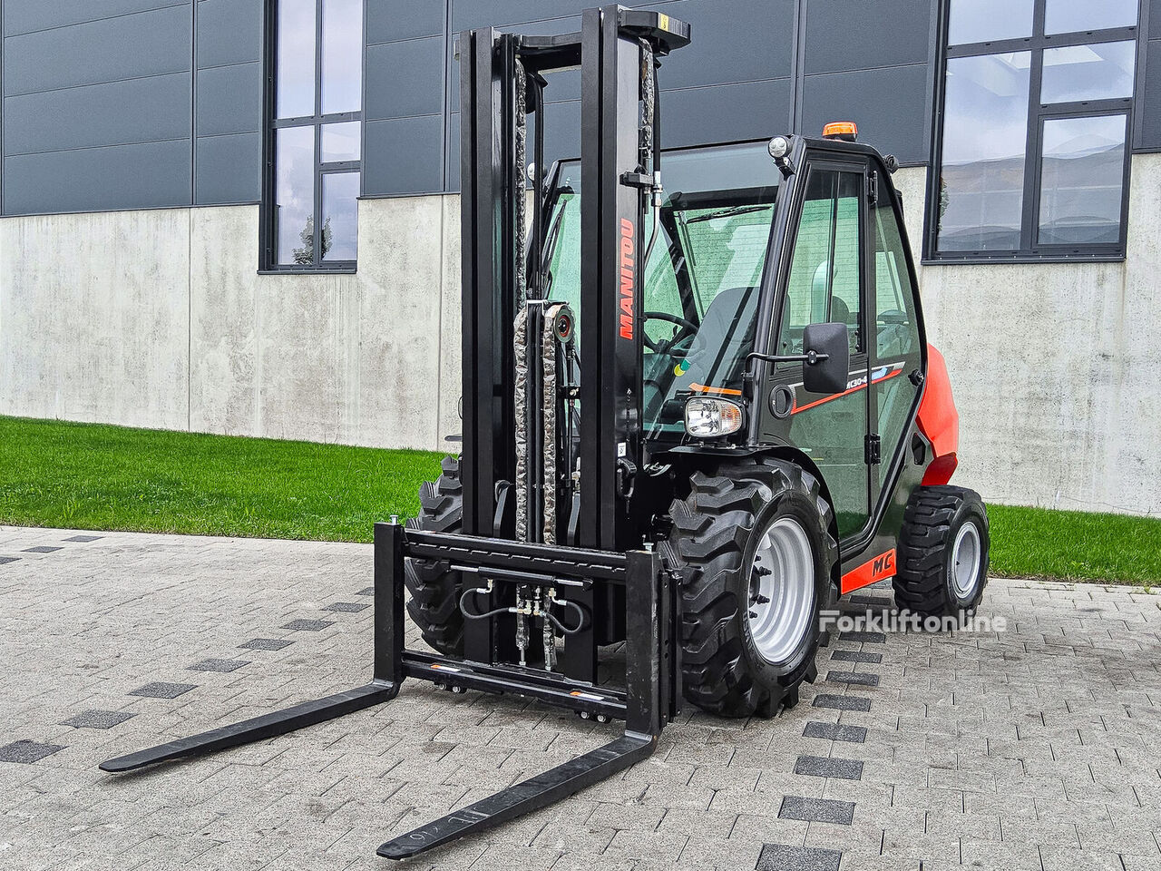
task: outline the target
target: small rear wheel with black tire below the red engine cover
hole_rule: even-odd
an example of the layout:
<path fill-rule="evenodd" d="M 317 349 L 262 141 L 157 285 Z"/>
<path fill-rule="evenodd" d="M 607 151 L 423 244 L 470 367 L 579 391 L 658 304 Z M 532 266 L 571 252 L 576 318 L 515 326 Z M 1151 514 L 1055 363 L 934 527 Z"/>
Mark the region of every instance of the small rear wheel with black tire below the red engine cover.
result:
<path fill-rule="evenodd" d="M 989 544 L 988 513 L 978 492 L 917 488 L 899 537 L 895 604 L 924 617 L 961 619 L 975 613 L 988 584 Z"/>

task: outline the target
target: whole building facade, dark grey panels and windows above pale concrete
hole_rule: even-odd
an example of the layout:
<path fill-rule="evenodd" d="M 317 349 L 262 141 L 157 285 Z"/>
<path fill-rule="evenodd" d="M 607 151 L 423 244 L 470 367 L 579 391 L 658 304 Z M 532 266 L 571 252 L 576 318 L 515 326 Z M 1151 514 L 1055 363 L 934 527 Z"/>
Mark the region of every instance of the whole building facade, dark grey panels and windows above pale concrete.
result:
<path fill-rule="evenodd" d="M 3 0 L 0 413 L 439 449 L 455 35 L 592 5 Z M 896 156 L 965 483 L 1161 511 L 1161 0 L 623 5 L 693 26 L 666 146 L 856 121 Z"/>

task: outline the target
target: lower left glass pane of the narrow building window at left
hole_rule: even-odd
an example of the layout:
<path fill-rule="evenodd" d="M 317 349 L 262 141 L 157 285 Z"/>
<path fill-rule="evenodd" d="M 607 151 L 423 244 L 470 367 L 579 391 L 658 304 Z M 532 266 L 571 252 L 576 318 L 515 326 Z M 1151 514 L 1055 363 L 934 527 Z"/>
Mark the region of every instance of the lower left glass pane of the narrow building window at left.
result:
<path fill-rule="evenodd" d="M 275 166 L 277 262 L 282 266 L 309 265 L 315 258 L 315 128 L 279 130 Z"/>

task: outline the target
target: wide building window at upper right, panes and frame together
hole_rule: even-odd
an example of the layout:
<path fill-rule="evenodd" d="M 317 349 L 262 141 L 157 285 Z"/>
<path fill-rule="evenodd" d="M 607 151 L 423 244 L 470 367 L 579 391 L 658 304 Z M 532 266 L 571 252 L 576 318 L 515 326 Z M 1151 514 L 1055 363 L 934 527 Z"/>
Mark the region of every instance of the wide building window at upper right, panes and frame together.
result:
<path fill-rule="evenodd" d="M 928 258 L 1123 258 L 1138 0 L 945 8 Z"/>

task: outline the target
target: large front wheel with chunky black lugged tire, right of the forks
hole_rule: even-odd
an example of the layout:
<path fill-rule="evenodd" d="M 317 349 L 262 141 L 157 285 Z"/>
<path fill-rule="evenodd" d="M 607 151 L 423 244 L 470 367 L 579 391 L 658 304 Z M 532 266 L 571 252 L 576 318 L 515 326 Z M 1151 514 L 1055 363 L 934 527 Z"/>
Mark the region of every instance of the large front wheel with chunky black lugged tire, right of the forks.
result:
<path fill-rule="evenodd" d="M 793 707 L 801 683 L 817 676 L 815 656 L 825 634 L 820 612 L 836 602 L 831 570 L 838 546 L 830 534 L 830 505 L 813 475 L 771 458 L 729 463 L 712 475 L 698 472 L 691 484 L 690 496 L 670 509 L 673 528 L 663 546 L 680 576 L 685 698 L 722 717 L 773 717 Z M 771 577 L 766 582 L 755 562 L 772 553 L 764 540 L 776 525 L 798 542 L 791 550 L 800 556 L 773 562 L 802 567 L 785 573 L 801 580 L 783 578 L 783 588 L 773 586 L 779 571 L 765 573 Z M 776 593 L 773 604 L 755 604 L 751 582 L 771 584 L 772 593 Z M 802 604 L 779 611 L 783 600 Z M 783 613 L 793 619 L 776 619 Z M 763 654 L 771 649 L 763 641 L 767 632 L 784 636 L 785 655 L 777 661 Z"/>

